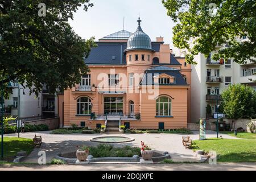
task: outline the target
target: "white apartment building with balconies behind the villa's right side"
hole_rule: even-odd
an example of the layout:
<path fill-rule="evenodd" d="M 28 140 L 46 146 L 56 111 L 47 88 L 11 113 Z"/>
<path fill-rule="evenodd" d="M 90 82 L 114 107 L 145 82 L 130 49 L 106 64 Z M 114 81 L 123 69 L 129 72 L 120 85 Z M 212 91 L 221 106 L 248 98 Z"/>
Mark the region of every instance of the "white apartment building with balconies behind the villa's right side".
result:
<path fill-rule="evenodd" d="M 241 39 L 241 41 L 246 38 Z M 216 49 L 221 46 L 216 47 Z M 185 51 L 181 50 L 181 56 Z M 212 55 L 214 52 L 212 52 Z M 256 65 L 251 62 L 238 64 L 231 59 L 228 61 L 213 61 L 199 53 L 195 56 L 196 65 L 192 65 L 191 73 L 191 122 L 198 122 L 200 118 L 207 117 L 207 105 L 212 109 L 211 117 L 217 113 L 221 102 L 220 94 L 228 88 L 229 84 L 246 84 L 256 90 Z M 251 81 L 252 80 L 252 81 Z"/>

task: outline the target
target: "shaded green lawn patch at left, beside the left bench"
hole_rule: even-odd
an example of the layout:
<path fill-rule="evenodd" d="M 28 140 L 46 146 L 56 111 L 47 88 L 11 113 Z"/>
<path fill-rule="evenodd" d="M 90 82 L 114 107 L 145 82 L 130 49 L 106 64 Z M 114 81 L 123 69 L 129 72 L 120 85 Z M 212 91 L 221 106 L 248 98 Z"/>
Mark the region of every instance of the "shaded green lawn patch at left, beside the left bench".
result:
<path fill-rule="evenodd" d="M 1 138 L 0 138 L 1 144 Z M 4 137 L 3 138 L 3 160 L 9 162 L 13 159 L 17 152 L 26 151 L 30 154 L 34 148 L 33 140 L 18 137 Z M 0 151 L 1 154 L 1 151 Z"/>

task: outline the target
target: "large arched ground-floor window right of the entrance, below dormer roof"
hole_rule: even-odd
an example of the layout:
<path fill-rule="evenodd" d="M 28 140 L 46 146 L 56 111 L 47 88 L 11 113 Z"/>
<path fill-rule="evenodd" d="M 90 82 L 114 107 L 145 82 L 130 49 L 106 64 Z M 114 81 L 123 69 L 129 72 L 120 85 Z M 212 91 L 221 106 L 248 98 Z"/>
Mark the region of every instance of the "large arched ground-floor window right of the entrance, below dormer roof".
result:
<path fill-rule="evenodd" d="M 156 100 L 156 115 L 171 116 L 171 99 L 163 96 Z"/>

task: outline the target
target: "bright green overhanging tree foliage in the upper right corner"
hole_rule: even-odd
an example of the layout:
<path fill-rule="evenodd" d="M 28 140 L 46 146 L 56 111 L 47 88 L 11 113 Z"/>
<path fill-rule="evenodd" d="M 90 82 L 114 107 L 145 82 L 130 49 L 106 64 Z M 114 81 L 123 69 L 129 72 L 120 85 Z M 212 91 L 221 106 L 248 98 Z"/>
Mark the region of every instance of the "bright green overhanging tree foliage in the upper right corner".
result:
<path fill-rule="evenodd" d="M 196 64 L 198 53 L 213 60 L 233 59 L 256 63 L 256 1 L 254 0 L 162 0 L 174 22 L 174 46 L 187 49 L 186 61 Z M 243 36 L 247 39 L 240 41 Z"/>

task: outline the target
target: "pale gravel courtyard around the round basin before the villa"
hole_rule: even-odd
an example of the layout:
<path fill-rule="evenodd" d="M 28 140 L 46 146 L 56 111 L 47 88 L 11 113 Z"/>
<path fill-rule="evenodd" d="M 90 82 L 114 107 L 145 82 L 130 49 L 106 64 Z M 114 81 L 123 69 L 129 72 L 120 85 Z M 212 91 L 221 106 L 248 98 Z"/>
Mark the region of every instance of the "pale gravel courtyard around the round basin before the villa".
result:
<path fill-rule="evenodd" d="M 85 135 L 85 134 L 60 134 L 52 135 L 50 131 L 37 132 L 37 135 L 42 135 L 43 144 L 40 148 L 35 148 L 24 162 L 27 163 L 38 163 L 38 152 L 40 150 L 46 151 L 47 163 L 50 163 L 52 158 L 58 152 L 74 152 L 80 146 L 95 146 L 98 143 L 90 142 L 90 139 L 97 136 L 109 136 L 109 135 Z M 181 142 L 182 136 L 187 134 L 122 134 L 121 136 L 134 138 L 134 142 L 114 144 L 115 146 L 141 146 L 141 141 L 146 143 L 153 150 L 167 151 L 170 153 L 174 162 L 199 162 L 195 158 L 195 154 L 192 150 L 185 149 Z M 6 136 L 17 136 L 17 134 L 8 134 Z M 20 137 L 23 138 L 34 138 L 34 133 L 22 133 Z M 190 134 L 193 140 L 199 139 L 198 132 Z M 214 131 L 207 131 L 207 138 L 216 137 Z M 223 134 L 222 138 L 234 138 L 229 135 Z"/>

